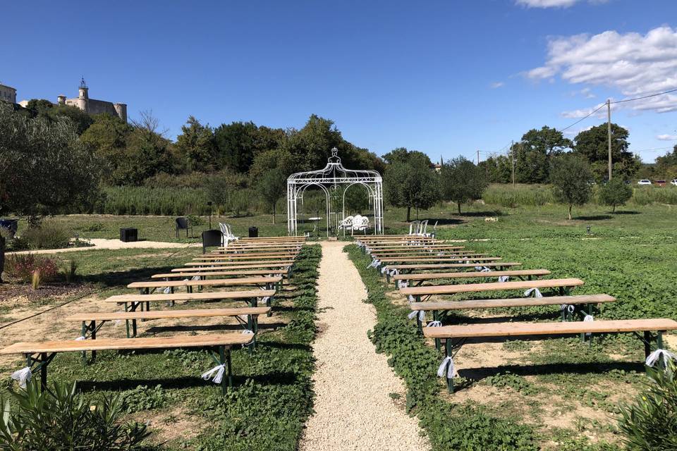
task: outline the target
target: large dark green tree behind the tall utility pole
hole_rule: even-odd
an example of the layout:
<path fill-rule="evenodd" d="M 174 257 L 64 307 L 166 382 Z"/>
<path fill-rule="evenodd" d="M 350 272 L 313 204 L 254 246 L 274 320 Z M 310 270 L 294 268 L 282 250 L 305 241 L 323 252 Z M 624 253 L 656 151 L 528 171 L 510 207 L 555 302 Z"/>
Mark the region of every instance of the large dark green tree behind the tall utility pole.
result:
<path fill-rule="evenodd" d="M 633 178 L 640 168 L 641 160 L 628 151 L 629 132 L 620 125 L 611 123 L 611 161 L 613 175 Z M 609 137 L 606 123 L 580 132 L 575 137 L 574 151 L 590 163 L 594 177 L 606 180 L 609 176 Z M 612 175 L 612 178 L 613 178 Z"/>

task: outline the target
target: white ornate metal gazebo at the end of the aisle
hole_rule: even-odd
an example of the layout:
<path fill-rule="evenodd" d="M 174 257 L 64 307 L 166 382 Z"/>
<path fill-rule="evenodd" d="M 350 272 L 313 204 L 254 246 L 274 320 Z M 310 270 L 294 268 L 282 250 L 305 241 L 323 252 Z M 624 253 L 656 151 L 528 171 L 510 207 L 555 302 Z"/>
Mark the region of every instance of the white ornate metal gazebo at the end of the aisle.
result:
<path fill-rule="evenodd" d="M 327 199 L 327 237 L 346 217 L 346 190 L 353 185 L 367 189 L 369 203 L 374 211 L 374 235 L 383 233 L 383 178 L 377 171 L 346 169 L 338 158 L 338 149 L 331 149 L 327 166 L 317 171 L 299 172 L 287 179 L 287 230 L 296 235 L 297 203 L 303 204 L 303 193 L 309 187 L 319 187 Z M 341 212 L 332 211 L 331 193 L 343 187 Z M 340 216 L 339 216 L 340 214 Z"/>

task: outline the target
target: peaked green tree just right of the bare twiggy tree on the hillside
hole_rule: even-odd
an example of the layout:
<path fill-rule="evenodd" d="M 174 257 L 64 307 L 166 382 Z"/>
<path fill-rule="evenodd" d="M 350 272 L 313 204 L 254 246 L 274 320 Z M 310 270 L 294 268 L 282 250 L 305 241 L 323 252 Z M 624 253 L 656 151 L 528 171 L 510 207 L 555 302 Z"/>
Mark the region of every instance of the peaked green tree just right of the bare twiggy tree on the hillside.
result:
<path fill-rule="evenodd" d="M 183 155 L 192 171 L 214 169 L 214 132 L 209 125 L 202 125 L 194 116 L 181 127 L 181 135 L 176 137 L 176 149 Z"/>

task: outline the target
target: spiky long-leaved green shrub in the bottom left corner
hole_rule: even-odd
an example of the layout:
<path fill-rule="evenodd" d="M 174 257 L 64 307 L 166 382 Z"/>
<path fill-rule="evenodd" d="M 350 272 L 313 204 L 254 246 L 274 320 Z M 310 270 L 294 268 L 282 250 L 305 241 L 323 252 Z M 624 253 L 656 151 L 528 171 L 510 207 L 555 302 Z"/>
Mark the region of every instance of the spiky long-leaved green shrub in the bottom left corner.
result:
<path fill-rule="evenodd" d="M 6 401 L 0 418 L 0 448 L 4 450 L 136 450 L 150 435 L 146 426 L 121 422 L 119 396 L 104 396 L 90 407 L 75 392 L 75 384 L 68 388 L 57 383 L 49 391 L 39 390 L 35 380 L 12 395 L 18 409 L 12 412 Z"/>

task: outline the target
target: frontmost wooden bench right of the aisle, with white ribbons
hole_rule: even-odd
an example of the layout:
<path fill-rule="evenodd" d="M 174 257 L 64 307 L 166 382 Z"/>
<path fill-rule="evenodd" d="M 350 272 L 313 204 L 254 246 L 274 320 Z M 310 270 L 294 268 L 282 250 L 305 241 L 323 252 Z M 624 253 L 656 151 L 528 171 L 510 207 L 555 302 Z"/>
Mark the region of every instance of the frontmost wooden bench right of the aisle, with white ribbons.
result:
<path fill-rule="evenodd" d="M 453 392 L 453 371 L 449 374 L 451 357 L 456 354 L 468 339 L 497 337 L 524 337 L 529 335 L 578 335 L 586 333 L 634 333 L 644 342 L 645 355 L 651 352 L 651 343 L 655 341 L 658 349 L 663 349 L 662 334 L 666 330 L 676 330 L 677 321 L 672 319 L 625 319 L 615 321 L 575 321 L 566 323 L 492 323 L 471 324 L 468 326 L 427 327 L 423 333 L 427 338 L 444 340 L 446 358 L 441 369 L 446 372 L 446 385 Z M 643 332 L 643 336 L 639 335 Z M 655 335 L 652 335 L 655 332 Z M 452 342 L 452 340 L 457 340 Z M 662 359 L 662 357 L 661 357 Z M 658 363 L 661 366 L 661 362 Z M 453 366 L 451 366 L 453 369 Z M 452 377 L 449 377 L 452 376 Z"/>

